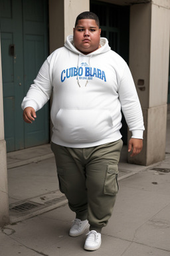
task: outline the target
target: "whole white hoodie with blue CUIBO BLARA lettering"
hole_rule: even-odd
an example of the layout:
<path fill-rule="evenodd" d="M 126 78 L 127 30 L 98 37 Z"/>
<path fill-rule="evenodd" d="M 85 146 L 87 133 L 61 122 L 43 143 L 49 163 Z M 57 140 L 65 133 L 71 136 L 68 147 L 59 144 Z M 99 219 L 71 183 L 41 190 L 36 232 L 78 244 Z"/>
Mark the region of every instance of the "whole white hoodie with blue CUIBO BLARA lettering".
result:
<path fill-rule="evenodd" d="M 143 115 L 128 65 L 100 39 L 84 55 L 72 35 L 44 61 L 22 108 L 38 111 L 52 93 L 52 142 L 65 147 L 94 147 L 122 137 L 121 107 L 133 138 L 143 138 Z"/>

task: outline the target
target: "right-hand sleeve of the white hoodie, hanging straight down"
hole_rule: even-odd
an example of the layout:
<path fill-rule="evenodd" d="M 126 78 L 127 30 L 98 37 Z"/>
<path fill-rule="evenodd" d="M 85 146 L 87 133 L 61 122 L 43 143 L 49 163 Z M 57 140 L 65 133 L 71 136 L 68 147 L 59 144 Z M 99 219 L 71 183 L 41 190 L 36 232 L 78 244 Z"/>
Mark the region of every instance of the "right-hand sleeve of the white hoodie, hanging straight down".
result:
<path fill-rule="evenodd" d="M 143 114 L 135 84 L 127 64 L 120 80 L 118 93 L 126 123 L 128 124 L 129 131 L 132 133 L 131 137 L 143 139 L 143 131 L 145 130 L 143 125 Z"/>

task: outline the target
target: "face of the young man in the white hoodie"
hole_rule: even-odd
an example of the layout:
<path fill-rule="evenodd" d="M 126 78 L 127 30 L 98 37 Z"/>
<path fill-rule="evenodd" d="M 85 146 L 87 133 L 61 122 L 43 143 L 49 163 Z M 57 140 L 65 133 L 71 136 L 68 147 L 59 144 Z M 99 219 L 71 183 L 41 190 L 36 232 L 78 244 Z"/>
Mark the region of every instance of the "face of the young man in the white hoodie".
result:
<path fill-rule="evenodd" d="M 92 53 L 100 48 L 100 33 L 94 19 L 79 19 L 73 30 L 74 46 L 84 54 Z"/>

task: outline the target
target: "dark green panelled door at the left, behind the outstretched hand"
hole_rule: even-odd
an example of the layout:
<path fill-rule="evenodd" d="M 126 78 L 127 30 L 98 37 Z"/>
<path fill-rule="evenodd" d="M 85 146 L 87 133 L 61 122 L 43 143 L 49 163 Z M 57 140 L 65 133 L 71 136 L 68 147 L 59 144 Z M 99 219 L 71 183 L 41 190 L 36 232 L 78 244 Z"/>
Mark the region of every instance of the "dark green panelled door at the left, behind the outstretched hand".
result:
<path fill-rule="evenodd" d="M 48 143 L 48 104 L 32 125 L 21 102 L 48 55 L 47 0 L 0 0 L 3 104 L 7 151 Z"/>

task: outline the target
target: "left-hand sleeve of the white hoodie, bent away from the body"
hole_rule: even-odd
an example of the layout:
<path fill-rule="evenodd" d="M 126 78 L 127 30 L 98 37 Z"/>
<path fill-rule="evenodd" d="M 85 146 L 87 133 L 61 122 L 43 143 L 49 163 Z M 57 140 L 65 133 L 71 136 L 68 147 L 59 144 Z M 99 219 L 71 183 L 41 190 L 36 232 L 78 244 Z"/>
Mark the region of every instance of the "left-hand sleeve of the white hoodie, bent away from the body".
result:
<path fill-rule="evenodd" d="M 33 107 L 38 111 L 50 99 L 52 83 L 50 75 L 50 64 L 48 59 L 44 61 L 33 85 L 31 85 L 26 97 L 21 104 L 22 109 Z"/>

